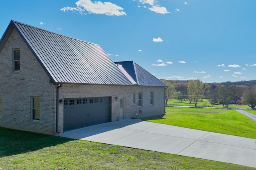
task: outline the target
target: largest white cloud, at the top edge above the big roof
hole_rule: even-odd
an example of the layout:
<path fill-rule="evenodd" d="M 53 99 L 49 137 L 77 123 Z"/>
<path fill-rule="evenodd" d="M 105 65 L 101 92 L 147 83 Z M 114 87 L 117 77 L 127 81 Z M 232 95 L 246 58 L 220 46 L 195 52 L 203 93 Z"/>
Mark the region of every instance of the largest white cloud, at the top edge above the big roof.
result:
<path fill-rule="evenodd" d="M 126 13 L 123 11 L 124 8 L 112 4 L 111 2 L 100 2 L 91 0 L 78 0 L 76 7 L 64 7 L 60 10 L 66 11 L 77 11 L 80 14 L 84 14 L 86 10 L 89 14 L 105 14 L 107 16 L 124 16 Z"/>

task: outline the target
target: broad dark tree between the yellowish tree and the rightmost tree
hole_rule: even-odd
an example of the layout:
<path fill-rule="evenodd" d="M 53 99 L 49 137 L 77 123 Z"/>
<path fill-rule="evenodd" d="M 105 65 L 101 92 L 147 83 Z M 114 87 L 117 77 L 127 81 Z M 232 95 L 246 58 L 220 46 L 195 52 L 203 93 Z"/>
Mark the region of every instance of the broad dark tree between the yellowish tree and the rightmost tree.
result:
<path fill-rule="evenodd" d="M 238 86 L 230 85 L 230 86 L 219 86 L 218 89 L 218 97 L 220 99 L 220 104 L 223 107 L 227 108 L 230 105 L 232 99 L 237 95 L 239 92 Z"/>

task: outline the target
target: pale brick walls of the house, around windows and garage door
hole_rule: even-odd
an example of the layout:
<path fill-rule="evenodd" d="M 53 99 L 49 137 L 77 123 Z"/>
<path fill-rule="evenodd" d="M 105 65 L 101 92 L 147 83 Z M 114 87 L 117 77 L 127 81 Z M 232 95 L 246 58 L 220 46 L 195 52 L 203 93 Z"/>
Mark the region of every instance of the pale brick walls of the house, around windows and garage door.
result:
<path fill-rule="evenodd" d="M 12 72 L 12 49 L 20 48 L 20 72 Z M 56 87 L 50 84 L 46 72 L 30 49 L 14 30 L 4 49 L 0 52 L 0 96 L 2 116 L 0 126 L 56 134 Z M 124 98 L 125 118 L 136 117 L 137 105 L 133 104 L 133 93 L 142 92 L 142 114 L 148 117 L 164 114 L 164 87 L 70 85 L 59 88 L 59 98 L 112 97 L 112 121 L 119 119 L 119 100 Z M 150 106 L 150 92 L 154 92 L 154 105 Z M 40 121 L 31 121 L 31 96 L 40 97 Z M 63 133 L 63 105 L 59 104 L 59 131 Z"/>

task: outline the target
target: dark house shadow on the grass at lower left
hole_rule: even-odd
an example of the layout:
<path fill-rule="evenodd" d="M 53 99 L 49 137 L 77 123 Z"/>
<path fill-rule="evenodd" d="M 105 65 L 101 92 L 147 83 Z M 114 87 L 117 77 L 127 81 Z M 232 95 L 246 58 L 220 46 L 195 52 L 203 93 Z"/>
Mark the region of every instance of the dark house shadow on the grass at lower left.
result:
<path fill-rule="evenodd" d="M 0 127 L 0 157 L 32 152 L 74 139 Z"/>

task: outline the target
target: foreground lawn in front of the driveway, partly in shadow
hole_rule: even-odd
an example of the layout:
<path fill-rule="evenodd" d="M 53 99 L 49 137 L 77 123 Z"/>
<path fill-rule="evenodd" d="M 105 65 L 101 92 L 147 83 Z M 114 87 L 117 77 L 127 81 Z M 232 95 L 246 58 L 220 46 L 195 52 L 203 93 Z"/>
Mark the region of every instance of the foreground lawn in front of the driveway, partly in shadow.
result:
<path fill-rule="evenodd" d="M 1 170 L 255 170 L 174 154 L 0 127 Z"/>

